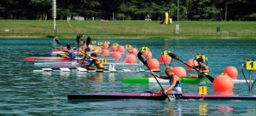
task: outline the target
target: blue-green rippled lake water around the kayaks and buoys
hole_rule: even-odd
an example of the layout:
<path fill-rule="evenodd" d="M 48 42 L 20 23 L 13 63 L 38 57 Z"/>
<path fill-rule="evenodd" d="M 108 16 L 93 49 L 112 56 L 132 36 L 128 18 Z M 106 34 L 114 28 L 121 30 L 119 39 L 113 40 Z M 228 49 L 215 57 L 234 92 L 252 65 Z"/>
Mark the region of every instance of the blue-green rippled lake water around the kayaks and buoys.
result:
<path fill-rule="evenodd" d="M 103 41 L 103 40 L 102 40 Z M 207 55 L 212 77 L 234 66 L 241 74 L 241 64 L 247 58 L 256 59 L 256 40 L 240 39 L 170 39 L 170 40 L 109 40 L 131 44 L 140 48 L 148 46 L 153 57 L 164 49 L 172 50 L 181 60 L 188 61 L 197 53 Z M 61 44 L 74 44 L 75 40 L 60 40 Z M 21 115 L 255 115 L 255 101 L 205 101 L 205 100 L 108 100 L 67 101 L 71 93 L 143 92 L 157 90 L 158 84 L 123 84 L 121 78 L 147 76 L 148 73 L 33 73 L 34 62 L 24 57 L 34 53 L 50 53 L 52 39 L 0 39 L 0 114 Z M 180 61 L 172 66 L 185 67 Z M 164 67 L 163 65 L 161 67 Z M 187 73 L 195 73 L 190 71 Z M 248 72 L 246 72 L 248 75 Z M 162 84 L 166 86 L 166 84 Z M 198 84 L 183 84 L 184 93 L 197 93 Z M 212 94 L 212 84 L 207 84 Z M 254 88 L 255 89 L 255 88 Z M 234 94 L 253 96 L 247 84 L 235 84 Z"/>

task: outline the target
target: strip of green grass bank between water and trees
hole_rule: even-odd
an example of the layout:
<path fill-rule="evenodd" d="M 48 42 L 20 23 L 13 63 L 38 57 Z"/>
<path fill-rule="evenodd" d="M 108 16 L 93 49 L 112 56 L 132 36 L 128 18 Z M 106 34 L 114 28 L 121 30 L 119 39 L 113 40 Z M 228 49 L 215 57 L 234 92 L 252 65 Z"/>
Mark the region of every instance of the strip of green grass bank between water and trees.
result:
<path fill-rule="evenodd" d="M 0 20 L 0 37 L 53 38 L 53 20 Z M 256 38 L 255 21 L 179 21 L 162 25 L 160 21 L 56 20 L 58 38 L 75 38 L 79 33 L 92 38 Z M 220 27 L 221 32 L 217 32 Z M 9 32 L 7 31 L 9 29 Z M 6 30 L 6 31 L 4 31 Z"/>

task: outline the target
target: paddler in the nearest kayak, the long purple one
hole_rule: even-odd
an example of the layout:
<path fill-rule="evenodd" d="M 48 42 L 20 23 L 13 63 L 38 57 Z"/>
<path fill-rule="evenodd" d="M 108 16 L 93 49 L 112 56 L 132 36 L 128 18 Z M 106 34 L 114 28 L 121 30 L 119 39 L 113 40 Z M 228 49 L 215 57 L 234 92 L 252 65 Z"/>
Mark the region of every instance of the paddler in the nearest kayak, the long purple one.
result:
<path fill-rule="evenodd" d="M 165 91 L 162 91 L 160 89 L 160 90 L 157 90 L 155 93 L 162 94 L 163 92 L 165 92 L 168 95 L 170 95 L 170 94 L 182 94 L 182 88 L 181 88 L 181 84 L 179 82 L 179 78 L 177 77 L 177 75 L 175 75 L 173 73 L 173 68 L 172 67 L 166 67 L 165 72 L 166 72 L 167 76 L 161 76 L 161 75 L 156 74 L 154 72 L 151 73 L 152 75 L 154 75 L 157 78 L 169 79 L 170 86 L 167 87 L 165 89 Z"/>

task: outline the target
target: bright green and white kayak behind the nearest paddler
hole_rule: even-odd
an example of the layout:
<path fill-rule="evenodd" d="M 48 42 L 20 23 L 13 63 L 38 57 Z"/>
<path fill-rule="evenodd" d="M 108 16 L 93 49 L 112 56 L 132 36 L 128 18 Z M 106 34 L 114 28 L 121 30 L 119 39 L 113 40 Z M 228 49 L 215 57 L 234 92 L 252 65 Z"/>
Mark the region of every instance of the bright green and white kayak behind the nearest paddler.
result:
<path fill-rule="evenodd" d="M 199 84 L 205 81 L 207 78 L 179 78 L 181 83 Z M 160 83 L 169 83 L 168 79 L 157 78 Z M 157 83 L 155 78 L 122 78 L 123 83 Z"/>

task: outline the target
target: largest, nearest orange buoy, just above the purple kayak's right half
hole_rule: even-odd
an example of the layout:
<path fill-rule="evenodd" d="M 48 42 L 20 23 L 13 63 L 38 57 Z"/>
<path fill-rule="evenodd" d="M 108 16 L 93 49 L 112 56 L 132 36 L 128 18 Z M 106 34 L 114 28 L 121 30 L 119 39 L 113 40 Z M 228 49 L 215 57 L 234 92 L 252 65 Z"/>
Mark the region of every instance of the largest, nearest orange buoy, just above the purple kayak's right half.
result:
<path fill-rule="evenodd" d="M 216 91 L 233 91 L 234 82 L 228 75 L 218 75 L 214 78 L 213 89 Z"/>

